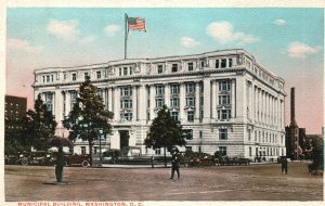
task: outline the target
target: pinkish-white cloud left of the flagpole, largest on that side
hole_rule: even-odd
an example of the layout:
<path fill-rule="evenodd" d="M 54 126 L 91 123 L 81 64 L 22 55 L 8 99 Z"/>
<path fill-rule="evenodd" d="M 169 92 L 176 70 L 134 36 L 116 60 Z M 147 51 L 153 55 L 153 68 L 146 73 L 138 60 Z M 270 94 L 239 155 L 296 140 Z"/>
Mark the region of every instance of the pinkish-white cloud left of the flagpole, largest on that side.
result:
<path fill-rule="evenodd" d="M 78 22 L 50 20 L 48 31 L 65 41 L 75 41 L 79 35 Z"/>

